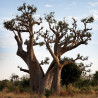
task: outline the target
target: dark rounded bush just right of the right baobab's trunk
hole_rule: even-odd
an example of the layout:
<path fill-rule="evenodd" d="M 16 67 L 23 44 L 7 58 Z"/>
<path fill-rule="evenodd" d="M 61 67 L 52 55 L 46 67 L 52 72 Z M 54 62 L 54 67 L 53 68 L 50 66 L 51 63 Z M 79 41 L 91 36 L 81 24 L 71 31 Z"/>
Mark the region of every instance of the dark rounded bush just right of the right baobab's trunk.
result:
<path fill-rule="evenodd" d="M 61 72 L 61 83 L 68 85 L 77 81 L 81 76 L 80 68 L 75 64 L 68 64 L 63 67 Z"/>

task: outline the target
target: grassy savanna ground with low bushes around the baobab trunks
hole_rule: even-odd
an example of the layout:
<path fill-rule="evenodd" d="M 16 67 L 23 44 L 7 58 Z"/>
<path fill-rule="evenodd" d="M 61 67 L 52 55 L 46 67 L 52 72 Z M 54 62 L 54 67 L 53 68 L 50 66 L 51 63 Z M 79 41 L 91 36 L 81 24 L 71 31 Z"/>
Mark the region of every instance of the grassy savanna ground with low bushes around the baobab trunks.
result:
<path fill-rule="evenodd" d="M 68 85 L 61 82 L 58 96 L 54 90 L 48 89 L 45 89 L 43 94 L 30 93 L 29 76 L 19 77 L 12 74 L 10 80 L 0 81 L 0 98 L 98 98 L 97 75 L 96 72 L 92 80 L 79 78 Z"/>

